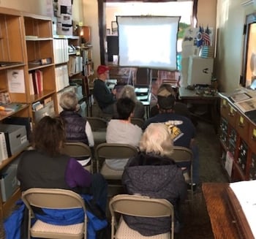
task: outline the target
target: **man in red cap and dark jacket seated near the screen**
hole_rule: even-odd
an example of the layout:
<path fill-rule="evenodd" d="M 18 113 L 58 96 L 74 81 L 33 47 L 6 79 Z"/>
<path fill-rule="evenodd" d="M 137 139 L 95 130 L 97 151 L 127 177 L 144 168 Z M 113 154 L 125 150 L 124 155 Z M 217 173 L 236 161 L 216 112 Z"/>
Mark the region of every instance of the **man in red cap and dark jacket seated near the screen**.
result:
<path fill-rule="evenodd" d="M 97 68 L 97 79 L 94 80 L 94 99 L 97 100 L 99 107 L 104 113 L 113 115 L 114 104 L 116 102 L 116 89 L 110 91 L 106 86 L 105 81 L 108 78 L 109 68 L 104 65 L 100 65 Z"/>

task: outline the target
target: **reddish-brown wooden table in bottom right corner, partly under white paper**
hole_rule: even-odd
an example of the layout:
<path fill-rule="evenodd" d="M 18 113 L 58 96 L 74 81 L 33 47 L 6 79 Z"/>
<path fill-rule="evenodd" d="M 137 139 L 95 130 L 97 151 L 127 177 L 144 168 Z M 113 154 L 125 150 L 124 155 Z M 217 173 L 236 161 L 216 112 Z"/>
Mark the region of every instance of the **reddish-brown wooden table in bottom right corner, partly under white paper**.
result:
<path fill-rule="evenodd" d="M 229 183 L 203 183 L 202 186 L 215 239 L 244 238 L 228 205 L 228 186 Z"/>

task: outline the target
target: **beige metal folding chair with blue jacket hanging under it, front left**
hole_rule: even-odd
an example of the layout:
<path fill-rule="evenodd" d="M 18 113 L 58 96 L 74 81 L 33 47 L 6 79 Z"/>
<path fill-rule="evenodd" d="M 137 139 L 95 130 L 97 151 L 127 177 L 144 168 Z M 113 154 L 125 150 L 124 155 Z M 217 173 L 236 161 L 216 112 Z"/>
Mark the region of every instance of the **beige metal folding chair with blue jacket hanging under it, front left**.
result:
<path fill-rule="evenodd" d="M 83 198 L 74 191 L 65 189 L 28 189 L 23 191 L 22 200 L 29 209 L 29 238 L 67 238 L 86 239 L 87 217 Z M 39 219 L 31 225 L 31 219 L 36 218 L 34 207 L 49 209 L 81 208 L 84 211 L 84 221 L 67 226 L 45 223 Z"/>

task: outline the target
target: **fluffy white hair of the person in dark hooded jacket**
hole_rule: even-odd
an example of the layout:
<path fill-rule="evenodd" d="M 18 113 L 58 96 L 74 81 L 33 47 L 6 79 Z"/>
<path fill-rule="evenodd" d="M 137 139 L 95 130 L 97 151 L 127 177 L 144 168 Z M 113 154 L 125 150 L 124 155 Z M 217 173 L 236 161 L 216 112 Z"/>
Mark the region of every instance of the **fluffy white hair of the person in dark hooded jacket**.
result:
<path fill-rule="evenodd" d="M 140 139 L 140 151 L 169 157 L 173 153 L 173 140 L 162 123 L 151 123 Z"/>

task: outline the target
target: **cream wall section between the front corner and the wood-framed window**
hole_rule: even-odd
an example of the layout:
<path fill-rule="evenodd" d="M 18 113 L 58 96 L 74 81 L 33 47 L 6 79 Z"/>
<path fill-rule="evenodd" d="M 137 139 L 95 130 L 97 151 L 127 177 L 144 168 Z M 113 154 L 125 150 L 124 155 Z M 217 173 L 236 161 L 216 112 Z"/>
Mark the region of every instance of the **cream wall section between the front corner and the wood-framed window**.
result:
<path fill-rule="evenodd" d="M 255 12 L 253 4 L 241 6 L 241 1 L 218 0 L 217 4 L 217 78 L 221 91 L 239 87 L 243 64 L 243 29 L 246 15 Z"/>

